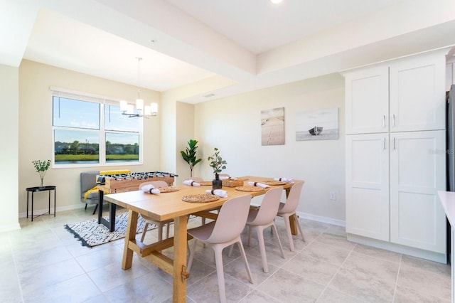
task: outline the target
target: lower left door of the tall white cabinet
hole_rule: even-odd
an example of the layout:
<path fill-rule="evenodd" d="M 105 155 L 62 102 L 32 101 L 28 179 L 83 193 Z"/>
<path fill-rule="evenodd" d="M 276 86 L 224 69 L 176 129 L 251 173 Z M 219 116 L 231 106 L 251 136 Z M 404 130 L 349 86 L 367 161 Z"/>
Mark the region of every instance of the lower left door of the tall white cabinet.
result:
<path fill-rule="evenodd" d="M 388 134 L 346 135 L 346 231 L 389 240 Z"/>

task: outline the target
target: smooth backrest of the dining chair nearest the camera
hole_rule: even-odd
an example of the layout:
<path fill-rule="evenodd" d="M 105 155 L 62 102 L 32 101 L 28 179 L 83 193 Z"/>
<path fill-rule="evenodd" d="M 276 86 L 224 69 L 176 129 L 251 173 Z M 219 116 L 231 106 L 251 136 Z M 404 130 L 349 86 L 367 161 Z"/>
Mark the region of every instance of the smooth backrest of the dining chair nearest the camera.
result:
<path fill-rule="evenodd" d="M 226 243 L 237 238 L 247 223 L 251 195 L 229 199 L 221 206 L 207 243 Z"/>

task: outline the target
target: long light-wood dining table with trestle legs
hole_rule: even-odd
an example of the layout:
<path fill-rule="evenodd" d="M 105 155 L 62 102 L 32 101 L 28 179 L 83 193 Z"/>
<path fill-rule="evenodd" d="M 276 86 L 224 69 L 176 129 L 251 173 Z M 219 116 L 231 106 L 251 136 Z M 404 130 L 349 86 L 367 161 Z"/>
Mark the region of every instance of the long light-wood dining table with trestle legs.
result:
<path fill-rule="evenodd" d="M 273 181 L 273 178 L 245 176 L 245 185 L 248 181 L 261 182 Z M 297 182 L 297 181 L 296 181 Z M 289 194 L 293 184 L 280 185 Z M 125 245 L 122 258 L 122 268 L 127 270 L 132 267 L 133 253 L 136 252 L 141 257 L 146 258 L 157 267 L 161 268 L 173 277 L 173 302 L 186 302 L 186 280 L 189 273 L 186 271 L 186 245 L 190 240 L 187 235 L 188 215 L 202 216 L 205 218 L 215 218 L 215 213 L 210 210 L 220 208 L 225 201 L 237 196 L 251 195 L 260 196 L 266 193 L 270 186 L 262 191 L 238 191 L 233 187 L 223 186 L 223 190 L 228 192 L 227 198 L 219 198 L 217 201 L 209 203 L 191 203 L 183 201 L 183 196 L 205 193 L 211 186 L 186 186 L 179 185 L 178 191 L 160 193 L 154 195 L 143 191 L 128 191 L 124 193 L 112 193 L 105 195 L 105 201 L 122 206 L 128 210 L 128 225 L 125 235 Z M 173 219 L 174 234 L 160 242 L 146 245 L 136 238 L 137 220 L 139 214 L 150 217 L 152 220 L 165 221 Z M 173 259 L 163 255 L 161 250 L 173 246 Z"/>

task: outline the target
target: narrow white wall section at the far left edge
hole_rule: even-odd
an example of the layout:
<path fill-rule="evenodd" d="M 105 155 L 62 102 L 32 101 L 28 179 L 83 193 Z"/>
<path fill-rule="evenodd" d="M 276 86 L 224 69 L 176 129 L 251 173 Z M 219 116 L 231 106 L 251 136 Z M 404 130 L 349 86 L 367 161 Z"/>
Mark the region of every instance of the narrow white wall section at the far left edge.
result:
<path fill-rule="evenodd" d="M 4 115 L 0 119 L 2 174 L 0 177 L 0 233 L 20 228 L 18 223 L 19 70 L 0 65 L 0 96 Z M 25 188 L 24 188 L 25 191 Z"/>

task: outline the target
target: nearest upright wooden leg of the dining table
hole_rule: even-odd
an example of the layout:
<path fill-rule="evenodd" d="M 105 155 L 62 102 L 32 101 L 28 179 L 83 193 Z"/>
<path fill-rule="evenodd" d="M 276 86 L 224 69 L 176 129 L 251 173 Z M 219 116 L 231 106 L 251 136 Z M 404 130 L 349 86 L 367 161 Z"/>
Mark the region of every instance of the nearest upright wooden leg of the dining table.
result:
<path fill-rule="evenodd" d="M 174 219 L 172 302 L 186 302 L 186 228 L 188 216 Z"/>

